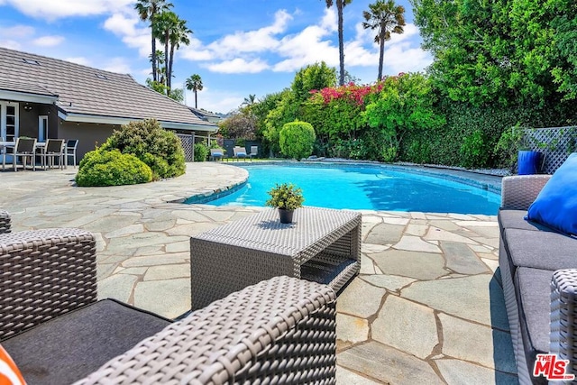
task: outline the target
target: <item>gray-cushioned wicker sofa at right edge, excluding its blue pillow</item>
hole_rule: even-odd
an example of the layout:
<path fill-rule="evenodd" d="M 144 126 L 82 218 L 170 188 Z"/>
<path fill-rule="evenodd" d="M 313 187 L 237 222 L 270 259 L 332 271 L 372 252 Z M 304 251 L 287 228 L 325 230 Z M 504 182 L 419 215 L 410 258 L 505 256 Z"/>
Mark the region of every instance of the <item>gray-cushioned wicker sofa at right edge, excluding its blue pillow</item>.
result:
<path fill-rule="evenodd" d="M 502 180 L 499 269 L 521 384 L 546 383 L 545 377 L 533 376 L 536 354 L 574 350 L 569 318 L 574 316 L 577 296 L 564 304 L 558 300 L 560 290 L 575 290 L 577 270 L 572 269 L 577 268 L 577 239 L 524 219 L 549 179 L 549 175 L 531 175 Z M 560 316 L 569 318 L 563 321 Z M 574 367 L 572 355 L 569 352 L 565 358 Z"/>

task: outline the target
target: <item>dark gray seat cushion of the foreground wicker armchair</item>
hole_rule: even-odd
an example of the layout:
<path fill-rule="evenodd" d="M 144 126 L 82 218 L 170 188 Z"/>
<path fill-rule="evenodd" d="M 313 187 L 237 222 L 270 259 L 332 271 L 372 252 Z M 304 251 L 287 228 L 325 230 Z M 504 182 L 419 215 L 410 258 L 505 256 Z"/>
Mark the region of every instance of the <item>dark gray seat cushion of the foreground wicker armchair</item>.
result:
<path fill-rule="evenodd" d="M 28 384 L 69 384 L 169 324 L 166 318 L 105 299 L 14 335 L 2 345 Z"/>

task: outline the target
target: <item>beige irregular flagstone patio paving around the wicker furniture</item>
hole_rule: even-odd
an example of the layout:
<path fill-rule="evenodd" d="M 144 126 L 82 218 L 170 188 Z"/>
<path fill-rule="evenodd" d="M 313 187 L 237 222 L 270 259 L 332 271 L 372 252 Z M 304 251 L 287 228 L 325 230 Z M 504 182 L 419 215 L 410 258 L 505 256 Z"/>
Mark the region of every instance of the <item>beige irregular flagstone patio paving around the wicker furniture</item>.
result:
<path fill-rule="evenodd" d="M 190 307 L 189 236 L 263 209 L 173 202 L 247 178 L 221 163 L 190 163 L 178 179 L 138 186 L 77 188 L 75 174 L 0 172 L 0 207 L 14 231 L 96 234 L 99 297 L 162 316 Z M 496 217 L 362 215 L 361 274 L 337 302 L 338 383 L 517 383 Z"/>

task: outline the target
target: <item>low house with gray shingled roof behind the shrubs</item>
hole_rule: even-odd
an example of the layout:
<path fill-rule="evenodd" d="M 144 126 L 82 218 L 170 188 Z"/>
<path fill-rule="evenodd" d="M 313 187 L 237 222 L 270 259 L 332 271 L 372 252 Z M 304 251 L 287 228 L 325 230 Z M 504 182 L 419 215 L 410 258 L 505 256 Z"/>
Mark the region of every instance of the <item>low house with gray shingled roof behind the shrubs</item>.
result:
<path fill-rule="evenodd" d="M 130 75 L 0 48 L 0 137 L 7 141 L 78 139 L 80 160 L 120 125 L 146 118 L 177 133 L 218 129 Z"/>

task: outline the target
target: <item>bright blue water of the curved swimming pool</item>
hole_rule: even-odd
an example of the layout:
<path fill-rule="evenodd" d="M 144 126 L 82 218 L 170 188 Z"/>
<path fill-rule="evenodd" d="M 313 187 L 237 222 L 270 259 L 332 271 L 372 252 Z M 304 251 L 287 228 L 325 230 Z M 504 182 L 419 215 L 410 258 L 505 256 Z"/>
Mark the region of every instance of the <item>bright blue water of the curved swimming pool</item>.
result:
<path fill-rule="evenodd" d="M 305 206 L 496 215 L 499 194 L 451 180 L 366 167 L 248 166 L 243 188 L 209 205 L 264 206 L 276 183 L 302 188 Z"/>

